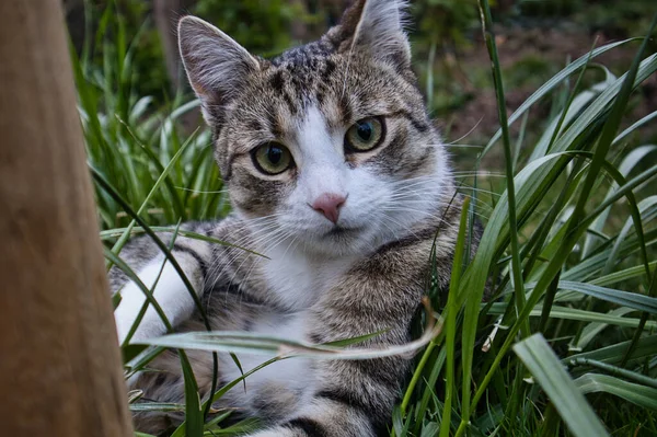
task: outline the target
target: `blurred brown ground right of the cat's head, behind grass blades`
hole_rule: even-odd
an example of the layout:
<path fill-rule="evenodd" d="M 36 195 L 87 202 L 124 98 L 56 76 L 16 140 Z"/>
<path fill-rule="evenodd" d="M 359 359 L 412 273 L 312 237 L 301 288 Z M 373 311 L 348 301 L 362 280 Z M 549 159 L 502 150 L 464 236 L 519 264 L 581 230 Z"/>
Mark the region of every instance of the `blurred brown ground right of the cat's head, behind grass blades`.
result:
<path fill-rule="evenodd" d="M 521 25 L 496 25 L 496 43 L 499 60 L 505 76 L 507 113 L 510 115 L 525 102 L 541 84 L 550 77 L 565 67 L 568 60 L 577 59 L 586 55 L 593 42 L 596 46 L 619 41 L 602 32 L 590 34 L 588 31 L 572 23 L 561 22 L 544 23 L 535 26 Z M 613 49 L 593 62 L 602 64 L 616 74 L 625 71 L 634 57 L 638 44 L 627 44 L 621 48 Z M 453 57 L 453 56 L 452 56 Z M 458 56 L 458 65 L 461 80 L 447 85 L 446 93 L 451 102 L 459 102 L 452 107 L 449 101 L 440 107 L 440 91 L 437 92 L 438 107 L 435 111 L 439 119 L 439 126 L 443 128 L 447 141 L 459 140 L 466 145 L 485 145 L 487 139 L 499 128 L 499 119 L 495 101 L 495 91 L 492 88 L 488 53 L 481 33 L 470 47 L 466 47 Z M 438 71 L 445 71 L 443 60 L 436 62 Z M 452 69 L 453 70 L 453 69 Z M 438 73 L 439 74 L 439 73 Z M 454 76 L 454 74 L 452 74 Z M 457 74 L 458 76 L 458 74 Z M 600 70 L 590 72 L 585 84 L 590 85 L 603 79 Z M 572 80 L 575 83 L 576 77 Z M 637 100 L 626 123 L 634 120 L 657 110 L 657 77 L 653 76 L 644 82 L 639 91 L 645 99 Z M 531 120 L 546 122 L 550 115 L 552 101 L 544 100 L 541 105 L 532 108 Z M 520 123 L 512 126 L 511 133 L 517 133 Z M 530 145 L 537 138 L 535 133 L 542 131 L 544 126 L 528 126 L 526 145 Z M 653 124 L 643 129 L 642 137 L 646 140 L 657 137 L 657 125 Z M 466 152 L 468 156 L 473 153 Z M 484 168 L 499 169 L 502 147 L 496 148 L 487 157 Z"/>

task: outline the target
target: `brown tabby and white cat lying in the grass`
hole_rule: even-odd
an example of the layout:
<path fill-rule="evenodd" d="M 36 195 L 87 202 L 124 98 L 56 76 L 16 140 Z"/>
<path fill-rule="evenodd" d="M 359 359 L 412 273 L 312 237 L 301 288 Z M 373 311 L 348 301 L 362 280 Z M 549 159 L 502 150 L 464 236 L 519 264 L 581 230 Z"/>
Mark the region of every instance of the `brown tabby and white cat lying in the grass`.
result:
<path fill-rule="evenodd" d="M 402 0 L 357 0 L 319 41 L 273 59 L 251 55 L 197 18 L 180 21 L 184 67 L 233 207 L 223 220 L 182 229 L 266 255 L 175 240 L 172 254 L 214 330 L 316 344 L 383 331 L 359 347 L 404 344 L 426 294 L 434 244 L 434 280 L 447 290 L 462 200 L 412 70 L 406 8 Z M 130 241 L 120 256 L 153 285 L 163 255 L 149 238 Z M 118 268 L 110 278 L 122 294 L 115 320 L 123 342 L 145 298 Z M 169 263 L 154 296 L 175 331 L 205 330 Z M 131 342 L 165 332 L 149 308 Z M 211 355 L 188 357 L 207 396 Z M 238 358 L 244 371 L 266 360 Z M 228 354 L 219 359 L 221 384 L 241 375 Z M 410 364 L 408 356 L 286 359 L 215 406 L 262 418 L 266 426 L 251 437 L 387 435 Z M 184 402 L 176 353 L 149 367 L 160 371 L 138 375 L 130 387 L 150 400 Z M 135 423 L 158 434 L 181 418 L 140 413 Z"/>

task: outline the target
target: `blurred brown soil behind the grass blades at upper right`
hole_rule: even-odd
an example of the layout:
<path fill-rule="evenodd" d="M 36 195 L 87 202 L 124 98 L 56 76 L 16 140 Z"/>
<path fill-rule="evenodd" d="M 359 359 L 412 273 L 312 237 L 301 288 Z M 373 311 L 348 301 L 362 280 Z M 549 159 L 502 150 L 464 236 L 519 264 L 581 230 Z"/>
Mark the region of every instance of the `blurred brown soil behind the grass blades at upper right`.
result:
<path fill-rule="evenodd" d="M 593 43 L 596 43 L 596 47 L 600 47 L 618 41 L 611 39 L 602 33 L 589 34 L 573 24 L 534 27 L 496 25 L 494 32 L 503 74 L 504 72 L 512 71 L 514 67 L 520 65 L 525 59 L 540 59 L 546 66 L 554 68 L 554 71 L 542 77 L 537 83 L 525 83 L 506 90 L 508 115 L 517 110 L 541 83 L 544 83 L 548 78 L 563 68 L 568 59 L 575 60 L 586 55 L 593 46 Z M 614 74 L 620 76 L 630 68 L 637 48 L 638 43 L 629 43 L 596 58 L 595 62 L 608 67 Z M 470 73 L 476 70 L 487 70 L 488 77 L 491 76 L 488 53 L 481 34 L 475 37 L 474 44 L 470 49 L 460 54 L 459 64 L 462 71 Z M 596 81 L 593 80 L 595 78 L 598 78 L 596 80 L 600 80 L 602 79 L 602 74 L 592 73 L 588 81 L 589 84 Z M 574 84 L 576 76 L 572 79 L 572 84 Z M 527 82 L 531 82 L 531 80 Z M 487 139 L 499 128 L 495 91 L 491 84 L 492 81 L 489 81 L 488 87 L 466 90 L 469 94 L 466 102 L 459 110 L 443 117 L 442 124 L 449 126 L 447 141 L 454 141 L 466 136 L 460 142 L 485 145 Z M 469 84 L 465 84 L 465 88 L 468 87 Z M 470 84 L 470 87 L 472 85 Z M 657 111 L 657 74 L 648 78 L 638 93 L 642 94 L 643 99 L 633 100 L 632 111 L 626 116 L 626 125 Z M 529 135 L 526 145 L 534 140 L 537 133 L 544 127 L 546 117 L 550 114 L 550 99 L 546 99 L 531 110 L 530 119 L 539 120 L 539 123 L 528 126 Z M 519 122 L 512 125 L 511 134 L 517 133 L 519 126 Z M 645 140 L 657 139 L 657 123 L 644 127 L 641 131 L 641 137 Z M 502 147 L 496 149 L 487 157 L 484 166 L 500 168 L 499 164 L 503 157 Z"/>

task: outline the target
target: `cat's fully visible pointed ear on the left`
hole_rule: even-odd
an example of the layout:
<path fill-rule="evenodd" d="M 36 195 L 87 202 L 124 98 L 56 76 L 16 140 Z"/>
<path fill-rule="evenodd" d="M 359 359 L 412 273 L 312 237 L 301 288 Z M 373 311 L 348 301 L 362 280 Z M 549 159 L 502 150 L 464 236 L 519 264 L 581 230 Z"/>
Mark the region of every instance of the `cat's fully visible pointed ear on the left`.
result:
<path fill-rule="evenodd" d="M 220 123 L 223 106 L 240 93 L 260 64 L 230 36 L 196 16 L 183 16 L 178 47 L 189 84 L 209 125 Z"/>

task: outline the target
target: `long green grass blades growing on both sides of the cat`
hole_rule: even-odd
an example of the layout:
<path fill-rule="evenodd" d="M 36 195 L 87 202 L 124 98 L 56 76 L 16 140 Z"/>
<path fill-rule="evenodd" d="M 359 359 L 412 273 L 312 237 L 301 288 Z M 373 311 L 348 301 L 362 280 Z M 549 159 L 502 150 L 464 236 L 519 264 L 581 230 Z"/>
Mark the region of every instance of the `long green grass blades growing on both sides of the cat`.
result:
<path fill-rule="evenodd" d="M 633 91 L 656 74 L 657 54 L 645 53 L 641 38 L 597 47 L 538 88 L 507 120 L 487 1 L 480 7 L 502 128 L 479 158 L 502 147 L 505 165 L 496 172 L 506 179 L 493 182 L 483 172 L 473 176 L 475 169 L 459 169 L 469 171 L 459 176 L 471 198 L 465 212 L 484 217 L 485 231 L 477 253 L 468 256 L 464 235 L 472 220 L 464 215 L 447 302 L 427 289 L 442 330 L 426 331 L 422 347 L 410 346 L 419 350 L 391 433 L 657 435 L 657 147 L 641 141 L 641 129 L 656 118 L 625 116 L 630 97 L 641 99 Z M 106 30 L 112 39 L 101 36 Z M 107 9 L 95 38 L 102 60 L 94 61 L 92 44 L 73 59 L 105 255 L 128 273 L 120 249 L 130 234 L 175 235 L 175 223 L 230 210 L 209 133 L 181 128 L 181 117 L 197 102 L 178 95 L 153 107 L 152 99 L 137 95 L 131 60 L 138 37 L 126 35 Z M 581 88 L 583 77 L 600 70 L 601 53 L 626 47 L 636 50 L 626 71 L 609 72 L 601 87 Z M 529 111 L 546 100 L 556 110 L 539 140 L 516 147 L 521 140 L 511 138 L 507 125 L 532 117 Z M 488 278 L 493 299 L 482 302 Z M 182 349 L 193 343 L 232 352 L 286 346 L 318 359 L 399 352 L 347 353 L 336 345 L 199 333 L 148 348 L 124 346 L 127 375 L 147 366 L 162 345 Z M 227 415 L 204 424 L 208 400 L 198 399 L 184 354 L 181 359 L 186 405 L 132 403 L 134 410 L 184 410 L 187 421 L 175 436 L 231 435 L 256 426 L 224 426 Z M 217 387 L 214 399 L 241 380 Z"/>

